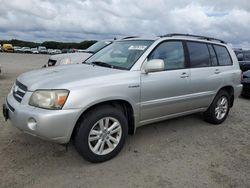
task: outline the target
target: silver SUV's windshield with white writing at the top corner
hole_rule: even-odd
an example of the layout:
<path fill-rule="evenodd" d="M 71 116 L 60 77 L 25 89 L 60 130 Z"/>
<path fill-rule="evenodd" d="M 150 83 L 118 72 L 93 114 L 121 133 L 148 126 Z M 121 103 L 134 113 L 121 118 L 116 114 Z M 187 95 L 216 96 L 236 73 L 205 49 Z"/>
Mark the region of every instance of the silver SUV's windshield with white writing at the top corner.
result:
<path fill-rule="evenodd" d="M 151 40 L 116 41 L 97 52 L 85 63 L 130 69 L 152 43 Z"/>

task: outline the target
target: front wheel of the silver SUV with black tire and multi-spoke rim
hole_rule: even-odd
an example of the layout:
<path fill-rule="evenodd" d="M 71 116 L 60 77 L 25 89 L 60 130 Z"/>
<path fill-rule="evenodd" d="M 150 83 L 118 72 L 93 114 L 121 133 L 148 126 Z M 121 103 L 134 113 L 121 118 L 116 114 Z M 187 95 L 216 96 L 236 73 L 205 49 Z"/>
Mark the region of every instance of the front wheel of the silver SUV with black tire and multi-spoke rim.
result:
<path fill-rule="evenodd" d="M 125 115 L 115 107 L 103 105 L 83 115 L 74 144 L 86 160 L 104 162 L 121 151 L 127 135 L 128 122 Z"/>

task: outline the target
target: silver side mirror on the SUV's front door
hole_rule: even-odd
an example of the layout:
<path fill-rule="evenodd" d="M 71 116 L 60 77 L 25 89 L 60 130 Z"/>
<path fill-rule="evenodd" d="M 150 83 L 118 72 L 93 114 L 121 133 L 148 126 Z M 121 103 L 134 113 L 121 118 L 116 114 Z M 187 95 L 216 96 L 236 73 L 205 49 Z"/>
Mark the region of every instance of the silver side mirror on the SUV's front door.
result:
<path fill-rule="evenodd" d="M 164 71 L 165 65 L 162 59 L 152 59 L 145 63 L 145 73 Z"/>

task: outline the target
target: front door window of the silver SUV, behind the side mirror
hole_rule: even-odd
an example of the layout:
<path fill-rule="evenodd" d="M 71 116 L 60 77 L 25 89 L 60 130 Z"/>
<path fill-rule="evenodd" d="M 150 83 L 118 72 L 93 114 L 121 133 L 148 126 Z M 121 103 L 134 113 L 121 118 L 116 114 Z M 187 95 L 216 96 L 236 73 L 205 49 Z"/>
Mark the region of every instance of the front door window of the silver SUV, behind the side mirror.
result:
<path fill-rule="evenodd" d="M 169 41 L 160 44 L 148 57 L 151 59 L 162 59 L 165 70 L 184 68 L 184 50 L 182 42 Z"/>

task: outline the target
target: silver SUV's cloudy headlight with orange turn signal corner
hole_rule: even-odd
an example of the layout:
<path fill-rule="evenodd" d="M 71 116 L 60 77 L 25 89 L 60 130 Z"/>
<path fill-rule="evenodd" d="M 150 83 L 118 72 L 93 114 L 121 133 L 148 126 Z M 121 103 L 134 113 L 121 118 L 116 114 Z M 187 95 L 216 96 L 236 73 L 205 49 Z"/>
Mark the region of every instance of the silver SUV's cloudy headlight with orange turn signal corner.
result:
<path fill-rule="evenodd" d="M 29 105 L 60 110 L 65 104 L 68 95 L 68 90 L 36 90 L 30 98 Z"/>

